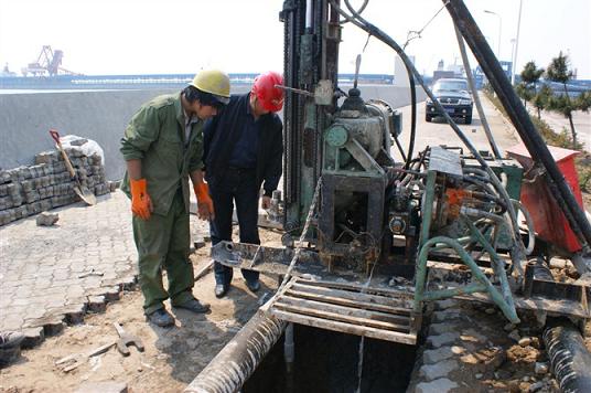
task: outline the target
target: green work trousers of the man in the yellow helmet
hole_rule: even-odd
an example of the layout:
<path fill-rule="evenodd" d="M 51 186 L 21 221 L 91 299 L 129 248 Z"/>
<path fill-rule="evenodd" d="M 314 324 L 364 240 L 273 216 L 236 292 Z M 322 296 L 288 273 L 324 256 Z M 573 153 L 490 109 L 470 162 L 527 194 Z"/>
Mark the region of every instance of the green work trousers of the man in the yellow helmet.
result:
<path fill-rule="evenodd" d="M 152 214 L 147 221 L 133 215 L 133 237 L 146 315 L 163 308 L 162 301 L 169 296 L 172 306 L 192 299 L 195 279 L 189 258 L 189 212 L 181 191 L 174 195 L 169 214 Z M 169 279 L 168 291 L 162 285 L 163 268 Z"/>

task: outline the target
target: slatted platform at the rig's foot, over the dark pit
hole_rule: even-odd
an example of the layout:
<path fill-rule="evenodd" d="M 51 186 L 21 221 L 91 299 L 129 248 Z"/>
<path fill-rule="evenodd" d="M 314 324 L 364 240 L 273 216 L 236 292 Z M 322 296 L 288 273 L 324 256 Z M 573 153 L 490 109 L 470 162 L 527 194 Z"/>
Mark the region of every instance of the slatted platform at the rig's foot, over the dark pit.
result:
<path fill-rule="evenodd" d="M 410 291 L 354 284 L 293 277 L 266 308 L 289 322 L 411 346 L 420 328 Z"/>

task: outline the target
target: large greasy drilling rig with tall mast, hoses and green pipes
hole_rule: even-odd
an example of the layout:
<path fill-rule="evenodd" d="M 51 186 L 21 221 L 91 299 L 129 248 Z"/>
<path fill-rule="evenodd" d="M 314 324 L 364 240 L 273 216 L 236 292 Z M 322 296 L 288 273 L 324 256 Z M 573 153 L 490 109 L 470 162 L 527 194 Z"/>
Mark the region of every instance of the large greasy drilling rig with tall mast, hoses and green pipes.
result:
<path fill-rule="evenodd" d="M 530 220 L 520 229 L 519 212 L 528 216 L 519 202 L 523 167 L 501 157 L 494 140 L 493 155 L 472 145 L 402 47 L 362 17 L 366 3 L 354 9 L 348 0 L 283 2 L 284 183 L 276 201 L 283 211 L 283 247 L 221 242 L 212 248 L 226 266 L 282 277 L 245 327 L 257 344 L 241 342 L 248 355 L 236 367 L 238 381 L 252 372 L 269 350 L 265 344 L 273 342 L 269 336 L 281 334 L 286 322 L 412 346 L 426 304 L 452 297 L 490 302 L 512 323 L 533 312 L 566 317 L 582 328 L 591 317 L 589 221 L 464 3 L 443 1 L 459 41 L 468 43 L 577 236 L 576 284 L 554 282 L 546 274 L 549 256 L 534 249 Z M 408 147 L 401 146 L 399 114 L 388 103 L 363 97 L 357 77 L 347 92 L 340 88 L 345 23 L 404 61 L 413 102 Z M 357 57 L 357 75 L 359 66 Z M 419 85 L 465 147 L 413 151 Z M 395 147 L 402 160 L 394 158 Z M 436 272 L 444 277 L 447 265 L 463 265 L 465 277 L 438 285 L 431 277 Z M 207 367 L 190 391 L 225 391 L 212 376 L 215 367 L 230 367 L 223 364 Z"/>

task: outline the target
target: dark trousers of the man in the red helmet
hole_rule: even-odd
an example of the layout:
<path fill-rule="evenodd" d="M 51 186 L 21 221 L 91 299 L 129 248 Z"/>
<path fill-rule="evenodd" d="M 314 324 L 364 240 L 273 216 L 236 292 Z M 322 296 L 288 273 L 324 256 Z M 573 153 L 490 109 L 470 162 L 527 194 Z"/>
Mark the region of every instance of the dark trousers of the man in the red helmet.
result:
<path fill-rule="evenodd" d="M 228 169 L 222 178 L 209 181 L 209 194 L 214 201 L 215 219 L 209 223 L 212 244 L 232 241 L 232 215 L 234 202 L 240 229 L 240 243 L 260 244 L 258 236 L 258 200 L 256 170 Z M 248 282 L 259 277 L 258 272 L 241 269 Z M 219 263 L 214 264 L 216 284 L 228 285 L 232 282 L 233 268 Z"/>

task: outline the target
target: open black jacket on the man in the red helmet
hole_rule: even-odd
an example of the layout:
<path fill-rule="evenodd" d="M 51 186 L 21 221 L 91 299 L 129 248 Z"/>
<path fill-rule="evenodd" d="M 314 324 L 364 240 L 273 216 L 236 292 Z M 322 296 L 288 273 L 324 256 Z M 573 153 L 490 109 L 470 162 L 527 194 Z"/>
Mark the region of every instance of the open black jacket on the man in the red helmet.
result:
<path fill-rule="evenodd" d="M 205 180 L 209 183 L 215 184 L 224 178 L 234 145 L 243 128 L 240 117 L 246 114 L 249 95 L 250 93 L 233 95 L 222 114 L 209 119 L 203 128 Z M 262 185 L 265 195 L 270 197 L 281 178 L 283 125 L 273 113 L 262 115 L 259 124 L 257 185 Z"/>

